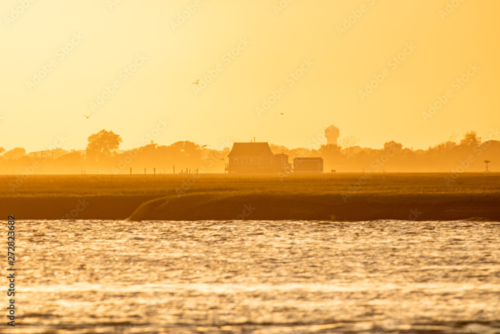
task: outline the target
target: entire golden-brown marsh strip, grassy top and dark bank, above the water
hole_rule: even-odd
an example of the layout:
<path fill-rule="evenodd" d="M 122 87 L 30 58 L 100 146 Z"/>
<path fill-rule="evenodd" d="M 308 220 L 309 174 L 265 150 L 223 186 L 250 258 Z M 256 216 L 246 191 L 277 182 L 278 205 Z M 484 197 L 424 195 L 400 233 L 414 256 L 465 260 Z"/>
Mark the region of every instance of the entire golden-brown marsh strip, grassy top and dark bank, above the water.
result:
<path fill-rule="evenodd" d="M 2 175 L 19 219 L 499 220 L 498 173 Z"/>

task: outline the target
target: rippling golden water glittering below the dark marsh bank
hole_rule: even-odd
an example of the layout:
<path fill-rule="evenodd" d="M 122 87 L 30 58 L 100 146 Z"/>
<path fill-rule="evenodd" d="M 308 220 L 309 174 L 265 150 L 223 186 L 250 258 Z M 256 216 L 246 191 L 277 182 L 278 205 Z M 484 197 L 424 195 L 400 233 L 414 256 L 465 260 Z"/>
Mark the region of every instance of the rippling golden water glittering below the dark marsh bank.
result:
<path fill-rule="evenodd" d="M 499 232 L 468 221 L 19 220 L 16 326 L 0 332 L 499 333 Z"/>

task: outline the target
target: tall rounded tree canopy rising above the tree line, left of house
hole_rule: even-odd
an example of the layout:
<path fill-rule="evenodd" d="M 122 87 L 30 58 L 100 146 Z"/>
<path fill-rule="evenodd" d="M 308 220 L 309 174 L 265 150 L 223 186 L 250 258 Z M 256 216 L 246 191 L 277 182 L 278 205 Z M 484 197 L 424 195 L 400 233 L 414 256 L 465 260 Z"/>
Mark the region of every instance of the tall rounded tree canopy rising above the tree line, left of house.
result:
<path fill-rule="evenodd" d="M 87 138 L 85 149 L 87 159 L 91 161 L 104 161 L 112 153 L 116 153 L 123 140 L 112 131 L 100 130 Z"/>

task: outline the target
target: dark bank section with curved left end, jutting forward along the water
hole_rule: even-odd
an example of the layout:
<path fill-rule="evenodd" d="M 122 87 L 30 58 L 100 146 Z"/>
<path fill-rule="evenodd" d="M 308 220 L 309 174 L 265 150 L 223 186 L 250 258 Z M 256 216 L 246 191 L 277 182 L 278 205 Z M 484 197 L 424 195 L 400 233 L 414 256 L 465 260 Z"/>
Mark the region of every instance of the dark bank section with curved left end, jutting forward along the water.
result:
<path fill-rule="evenodd" d="M 131 220 L 500 220 L 499 197 L 337 195 L 169 196 L 143 203 Z"/>

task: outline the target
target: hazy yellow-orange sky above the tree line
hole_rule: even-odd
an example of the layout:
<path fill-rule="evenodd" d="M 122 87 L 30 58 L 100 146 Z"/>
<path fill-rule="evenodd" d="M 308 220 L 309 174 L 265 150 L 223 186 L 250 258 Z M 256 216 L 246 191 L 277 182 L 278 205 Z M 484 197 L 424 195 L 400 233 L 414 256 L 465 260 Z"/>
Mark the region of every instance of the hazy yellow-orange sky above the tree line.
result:
<path fill-rule="evenodd" d="M 3 0 L 0 146 L 84 149 L 106 129 L 123 149 L 292 148 L 330 124 L 373 148 L 484 139 L 500 123 L 498 13 L 497 0 Z"/>

